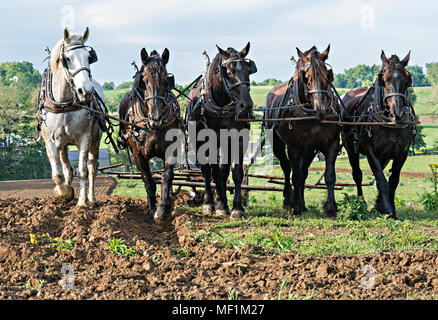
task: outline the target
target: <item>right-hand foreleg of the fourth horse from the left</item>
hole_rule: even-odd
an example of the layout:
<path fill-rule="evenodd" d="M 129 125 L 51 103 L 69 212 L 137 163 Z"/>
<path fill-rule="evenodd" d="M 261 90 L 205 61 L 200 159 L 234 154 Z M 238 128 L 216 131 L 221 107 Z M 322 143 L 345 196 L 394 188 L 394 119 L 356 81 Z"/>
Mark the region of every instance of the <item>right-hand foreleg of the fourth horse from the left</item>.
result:
<path fill-rule="evenodd" d="M 325 172 L 324 180 L 327 185 L 327 201 L 324 203 L 324 211 L 327 216 L 335 217 L 338 211 L 338 206 L 335 200 L 335 183 L 336 183 L 336 171 L 335 163 L 336 157 L 339 151 L 339 140 L 330 146 L 325 155 Z"/>

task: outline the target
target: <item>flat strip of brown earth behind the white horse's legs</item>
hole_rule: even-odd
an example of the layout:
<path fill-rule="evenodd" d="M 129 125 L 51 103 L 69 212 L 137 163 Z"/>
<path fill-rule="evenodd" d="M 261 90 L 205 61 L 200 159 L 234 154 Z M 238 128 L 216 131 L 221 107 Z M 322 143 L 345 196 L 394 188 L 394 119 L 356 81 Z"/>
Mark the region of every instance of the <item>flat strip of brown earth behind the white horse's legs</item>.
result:
<path fill-rule="evenodd" d="M 96 197 L 109 196 L 117 187 L 114 177 L 99 175 L 96 177 Z M 73 179 L 75 194 L 79 194 L 79 180 Z M 55 183 L 51 179 L 0 181 L 0 199 L 9 197 L 30 199 L 53 196 Z"/>

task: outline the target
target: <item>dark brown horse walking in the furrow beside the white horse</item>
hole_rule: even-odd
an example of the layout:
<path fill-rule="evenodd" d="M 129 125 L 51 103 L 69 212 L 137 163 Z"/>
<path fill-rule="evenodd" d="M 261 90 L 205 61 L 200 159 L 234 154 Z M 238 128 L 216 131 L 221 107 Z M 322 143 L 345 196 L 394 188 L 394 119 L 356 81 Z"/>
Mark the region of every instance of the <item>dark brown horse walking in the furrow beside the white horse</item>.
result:
<path fill-rule="evenodd" d="M 170 192 L 176 153 L 167 153 L 173 141 L 166 141 L 169 130 L 182 130 L 180 109 L 172 93 L 173 75 L 168 74 L 166 64 L 169 50 L 160 56 L 155 50 L 150 55 L 141 50 L 143 65 L 136 73 L 132 89 L 120 102 L 119 116 L 136 126 L 120 124 L 119 135 L 129 145 L 135 164 L 141 172 L 148 196 L 148 208 L 156 223 L 163 223 L 172 211 Z M 142 127 L 143 129 L 139 128 Z M 164 161 L 161 175 L 161 197 L 157 208 L 156 183 L 152 178 L 149 160 L 159 157 Z"/>

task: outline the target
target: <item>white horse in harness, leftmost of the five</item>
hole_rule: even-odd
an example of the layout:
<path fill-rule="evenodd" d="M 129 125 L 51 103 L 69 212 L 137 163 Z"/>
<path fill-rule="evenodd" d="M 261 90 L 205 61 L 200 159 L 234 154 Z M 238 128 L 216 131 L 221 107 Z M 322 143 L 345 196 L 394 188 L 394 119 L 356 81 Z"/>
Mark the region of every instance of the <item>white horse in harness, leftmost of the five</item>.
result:
<path fill-rule="evenodd" d="M 89 105 L 93 94 L 104 100 L 102 87 L 91 79 L 90 63 L 97 61 L 97 56 L 93 49 L 84 45 L 88 35 L 88 27 L 83 35 L 71 34 L 67 28 L 64 29 L 64 39 L 56 44 L 50 54 L 47 72 L 50 85 L 45 88 L 45 100 L 51 99 L 49 102 L 52 107 L 61 106 L 65 111 L 51 112 L 46 107 L 47 103 L 40 110 L 41 134 L 52 167 L 52 178 L 56 183 L 54 192 L 66 201 L 74 197 L 68 146 L 75 145 L 79 150 L 80 194 L 77 206 L 86 206 L 87 200 L 90 204 L 96 201 L 94 180 L 102 137 L 99 123 L 92 113 L 81 108 L 72 109 L 68 104 L 74 101 L 75 104 Z"/>

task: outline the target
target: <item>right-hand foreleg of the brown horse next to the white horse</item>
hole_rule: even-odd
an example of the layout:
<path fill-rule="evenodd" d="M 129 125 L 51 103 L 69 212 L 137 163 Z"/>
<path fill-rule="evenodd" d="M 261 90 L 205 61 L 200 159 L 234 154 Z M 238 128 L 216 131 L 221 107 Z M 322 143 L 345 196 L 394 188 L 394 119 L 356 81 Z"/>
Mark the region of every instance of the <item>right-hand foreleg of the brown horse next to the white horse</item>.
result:
<path fill-rule="evenodd" d="M 157 224 L 162 224 L 172 212 L 172 200 L 170 198 L 170 190 L 172 190 L 173 168 L 174 164 L 165 160 L 164 170 L 161 174 L 161 196 L 158 208 L 155 211 L 154 220 Z"/>

